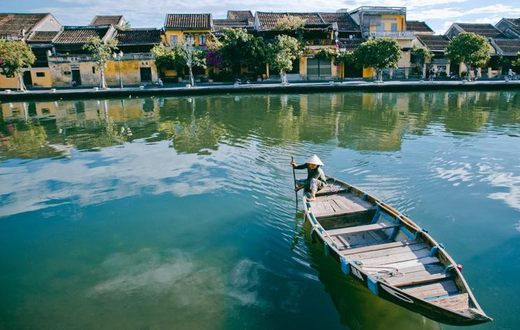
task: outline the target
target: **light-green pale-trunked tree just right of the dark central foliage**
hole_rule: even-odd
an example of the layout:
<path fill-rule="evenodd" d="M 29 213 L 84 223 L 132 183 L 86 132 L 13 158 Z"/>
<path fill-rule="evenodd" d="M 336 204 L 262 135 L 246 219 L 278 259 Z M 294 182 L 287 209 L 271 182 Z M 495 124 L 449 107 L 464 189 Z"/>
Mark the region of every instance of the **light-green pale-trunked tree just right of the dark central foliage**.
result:
<path fill-rule="evenodd" d="M 267 61 L 273 68 L 280 70 L 282 84 L 288 83 L 285 72 L 292 70 L 292 62 L 302 54 L 302 43 L 291 36 L 276 36 L 274 43 L 267 45 Z"/>

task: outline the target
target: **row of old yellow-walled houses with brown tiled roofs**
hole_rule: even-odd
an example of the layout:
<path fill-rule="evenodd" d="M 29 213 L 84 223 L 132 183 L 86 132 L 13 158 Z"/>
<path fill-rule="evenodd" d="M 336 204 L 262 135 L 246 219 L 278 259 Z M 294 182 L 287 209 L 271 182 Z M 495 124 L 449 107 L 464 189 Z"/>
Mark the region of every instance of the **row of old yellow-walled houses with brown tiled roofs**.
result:
<path fill-rule="evenodd" d="M 450 38 L 463 32 L 474 32 L 489 40 L 491 60 L 479 68 L 482 77 L 496 77 L 510 68 L 510 62 L 520 52 L 520 18 L 503 18 L 498 24 L 454 23 L 444 35 L 435 35 L 426 24 L 406 19 L 404 7 L 360 7 L 338 10 L 334 13 L 272 13 L 250 10 L 228 10 L 226 18 L 214 18 L 209 13 L 168 14 L 164 26 L 157 28 L 129 27 L 121 15 L 96 16 L 88 25 L 62 26 L 50 13 L 0 14 L 0 38 L 23 40 L 36 55 L 33 68 L 24 72 L 29 87 L 97 86 L 100 73 L 94 61 L 83 50 L 91 36 L 103 40 L 114 38 L 119 51 L 107 64 L 107 84 L 147 84 L 158 77 L 179 81 L 182 74 L 174 68 L 157 68 L 150 50 L 154 45 L 173 47 L 179 40 L 187 40 L 195 47 L 205 47 L 211 33 L 217 35 L 225 28 L 242 28 L 248 33 L 269 41 L 276 36 L 276 24 L 285 16 L 300 17 L 305 21 L 302 39 L 305 50 L 295 61 L 290 80 L 330 80 L 343 77 L 372 77 L 373 70 L 359 70 L 354 66 L 334 65 L 334 61 L 320 59 L 316 54 L 324 48 L 339 47 L 353 51 L 369 38 L 394 38 L 401 45 L 403 57 L 399 68 L 386 70 L 391 78 L 421 77 L 422 69 L 415 67 L 411 53 L 415 46 L 428 47 L 435 57 L 428 63 L 439 75 L 461 74 L 463 63 L 445 59 L 445 47 Z M 215 71 L 198 68 L 195 75 L 206 77 Z M 269 77 L 269 67 L 240 68 L 237 74 Z M 276 73 L 271 73 L 276 74 Z M 0 75 L 0 89 L 15 89 L 17 79 Z"/>

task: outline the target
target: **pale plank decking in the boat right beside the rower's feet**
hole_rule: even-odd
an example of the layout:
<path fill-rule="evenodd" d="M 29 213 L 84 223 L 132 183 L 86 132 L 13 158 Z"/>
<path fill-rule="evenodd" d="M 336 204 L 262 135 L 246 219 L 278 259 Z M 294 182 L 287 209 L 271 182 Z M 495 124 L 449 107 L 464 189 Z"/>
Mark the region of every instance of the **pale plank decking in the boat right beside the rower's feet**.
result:
<path fill-rule="evenodd" d="M 341 216 L 373 209 L 373 205 L 351 193 L 336 193 L 332 195 L 317 195 L 311 202 L 311 210 L 316 218 Z"/>

